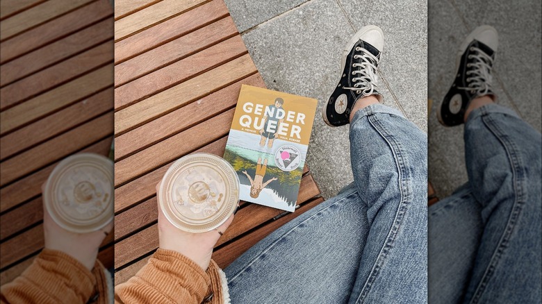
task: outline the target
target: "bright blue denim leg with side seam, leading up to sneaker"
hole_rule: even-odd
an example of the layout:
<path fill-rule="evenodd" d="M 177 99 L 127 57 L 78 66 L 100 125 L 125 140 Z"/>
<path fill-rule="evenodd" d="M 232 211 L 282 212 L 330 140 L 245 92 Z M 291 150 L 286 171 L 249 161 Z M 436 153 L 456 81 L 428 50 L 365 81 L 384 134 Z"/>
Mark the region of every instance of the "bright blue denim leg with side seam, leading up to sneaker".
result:
<path fill-rule="evenodd" d="M 381 104 L 350 122 L 369 234 L 350 303 L 427 301 L 427 135 Z"/>

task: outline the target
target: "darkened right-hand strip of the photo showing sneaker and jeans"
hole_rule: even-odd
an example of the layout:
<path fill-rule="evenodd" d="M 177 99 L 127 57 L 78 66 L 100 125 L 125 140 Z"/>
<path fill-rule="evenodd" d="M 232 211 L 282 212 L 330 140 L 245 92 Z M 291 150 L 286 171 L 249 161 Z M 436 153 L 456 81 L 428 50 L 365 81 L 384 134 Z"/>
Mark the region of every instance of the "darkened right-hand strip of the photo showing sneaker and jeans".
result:
<path fill-rule="evenodd" d="M 429 303 L 542 303 L 541 15 L 429 0 Z"/>

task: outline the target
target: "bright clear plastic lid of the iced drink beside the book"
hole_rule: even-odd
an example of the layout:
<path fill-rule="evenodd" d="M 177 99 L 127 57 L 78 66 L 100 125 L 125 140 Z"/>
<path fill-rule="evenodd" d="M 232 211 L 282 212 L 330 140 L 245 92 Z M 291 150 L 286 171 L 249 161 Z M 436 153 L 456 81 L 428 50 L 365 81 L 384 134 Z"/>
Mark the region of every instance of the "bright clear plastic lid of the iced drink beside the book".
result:
<path fill-rule="evenodd" d="M 226 160 L 194 153 L 167 169 L 158 195 L 165 217 L 174 226 L 204 233 L 220 226 L 236 210 L 239 178 Z"/>

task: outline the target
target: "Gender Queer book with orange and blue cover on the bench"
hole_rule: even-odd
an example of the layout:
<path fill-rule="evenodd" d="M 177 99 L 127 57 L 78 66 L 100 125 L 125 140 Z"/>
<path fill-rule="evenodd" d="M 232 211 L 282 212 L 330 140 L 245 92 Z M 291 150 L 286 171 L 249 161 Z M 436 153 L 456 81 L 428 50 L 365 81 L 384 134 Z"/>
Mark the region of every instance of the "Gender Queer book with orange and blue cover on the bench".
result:
<path fill-rule="evenodd" d="M 224 159 L 239 199 L 293 212 L 318 101 L 242 85 Z"/>

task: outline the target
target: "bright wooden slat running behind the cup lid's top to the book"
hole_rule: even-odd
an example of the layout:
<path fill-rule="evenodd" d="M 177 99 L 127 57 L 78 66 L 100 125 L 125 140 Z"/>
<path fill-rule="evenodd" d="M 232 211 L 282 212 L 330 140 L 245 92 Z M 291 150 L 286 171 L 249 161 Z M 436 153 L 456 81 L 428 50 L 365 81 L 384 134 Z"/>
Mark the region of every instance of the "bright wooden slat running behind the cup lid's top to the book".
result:
<path fill-rule="evenodd" d="M 212 142 L 195 152 L 211 153 L 215 155 L 224 155 L 224 149 L 226 147 L 227 137 L 223 137 L 220 140 Z M 162 180 L 165 171 L 171 166 L 173 162 L 164 164 L 162 167 L 155 169 L 154 171 L 141 176 L 140 178 L 117 187 L 115 189 L 115 213 L 121 212 L 127 208 L 131 208 L 133 205 L 149 199 L 156 194 L 156 184 Z"/>

